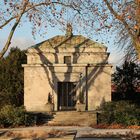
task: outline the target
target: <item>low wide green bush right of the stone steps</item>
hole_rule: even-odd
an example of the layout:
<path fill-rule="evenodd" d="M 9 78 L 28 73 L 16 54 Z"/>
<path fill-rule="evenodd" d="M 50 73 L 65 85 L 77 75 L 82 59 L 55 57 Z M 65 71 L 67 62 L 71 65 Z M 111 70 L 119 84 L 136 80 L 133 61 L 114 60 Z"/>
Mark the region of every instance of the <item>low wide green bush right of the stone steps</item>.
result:
<path fill-rule="evenodd" d="M 100 107 L 98 122 L 104 124 L 140 125 L 140 108 L 127 102 L 105 102 Z"/>

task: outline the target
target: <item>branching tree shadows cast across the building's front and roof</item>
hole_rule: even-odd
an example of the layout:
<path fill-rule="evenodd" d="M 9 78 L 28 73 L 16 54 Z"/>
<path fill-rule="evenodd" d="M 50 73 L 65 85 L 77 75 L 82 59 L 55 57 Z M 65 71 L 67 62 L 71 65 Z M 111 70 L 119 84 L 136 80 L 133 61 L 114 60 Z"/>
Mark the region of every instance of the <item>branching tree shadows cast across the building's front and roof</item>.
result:
<path fill-rule="evenodd" d="M 53 53 L 53 55 L 54 55 L 56 64 L 59 63 L 59 58 L 58 58 L 58 53 L 60 53 L 59 47 L 62 44 L 66 45 L 67 41 L 70 41 L 71 39 L 72 39 L 72 36 L 66 38 L 66 40 L 57 44 L 56 46 L 53 46 L 53 44 L 51 42 L 49 42 L 49 44 L 52 46 L 52 48 L 55 49 L 55 53 Z M 76 44 L 76 46 L 73 47 L 75 49 L 75 53 L 73 53 L 73 63 L 74 64 L 77 63 L 77 60 L 80 57 L 80 53 L 84 52 L 84 50 L 85 50 L 85 47 L 82 47 L 83 50 L 82 50 L 82 52 L 80 52 L 80 47 L 82 45 L 84 45 L 85 43 L 87 43 L 88 41 L 89 41 L 89 39 L 86 39 L 83 42 L 80 42 L 80 44 Z M 59 81 L 59 78 L 57 77 L 57 74 L 54 73 L 55 67 L 53 66 L 53 63 L 43 54 L 43 52 L 41 51 L 41 49 L 39 47 L 36 47 L 35 50 L 38 52 L 42 64 L 44 64 L 44 65 L 42 65 L 42 67 L 44 68 L 44 71 L 48 78 L 49 84 L 50 84 L 51 88 L 54 90 L 55 94 L 57 94 L 57 91 L 56 91 L 57 89 L 55 88 L 55 81 Z M 106 64 L 107 60 L 108 60 L 108 55 L 106 56 L 106 58 L 103 59 L 102 63 Z M 88 71 L 89 67 L 90 66 L 85 67 L 83 70 L 83 73 L 86 73 L 86 71 Z M 81 82 L 77 82 L 77 85 L 74 90 L 77 90 L 82 87 L 81 93 L 82 93 L 82 96 L 84 97 L 85 92 L 87 92 L 87 90 L 90 88 L 91 84 L 94 83 L 94 81 L 98 77 L 98 75 L 100 75 L 103 72 L 103 69 L 104 69 L 104 66 L 99 66 L 98 64 L 96 64 L 90 72 L 89 71 L 87 72 L 87 75 L 83 75 L 81 77 L 81 79 L 79 77 L 79 81 L 81 81 Z M 73 67 L 71 65 L 67 64 L 67 71 L 64 73 L 64 81 L 66 81 L 66 80 L 70 81 L 72 72 L 73 72 Z M 85 82 L 86 82 L 86 84 L 85 84 Z"/>

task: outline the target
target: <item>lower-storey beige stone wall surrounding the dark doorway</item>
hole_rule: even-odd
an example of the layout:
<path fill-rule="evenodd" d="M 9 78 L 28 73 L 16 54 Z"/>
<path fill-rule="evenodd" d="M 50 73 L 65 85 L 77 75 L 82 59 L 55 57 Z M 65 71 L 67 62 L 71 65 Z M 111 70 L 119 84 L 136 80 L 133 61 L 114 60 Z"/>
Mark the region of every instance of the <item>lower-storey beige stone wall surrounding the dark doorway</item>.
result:
<path fill-rule="evenodd" d="M 24 65 L 24 104 L 27 110 L 44 110 L 48 101 L 48 93 L 54 97 L 54 108 L 57 110 L 57 82 L 76 82 L 80 81 L 82 73 L 82 85 L 77 89 L 86 94 L 86 65 L 65 64 L 48 67 L 46 65 Z M 88 108 L 95 110 L 100 103 L 111 100 L 111 66 L 89 66 L 88 67 Z M 80 89 L 81 88 L 81 89 Z"/>

